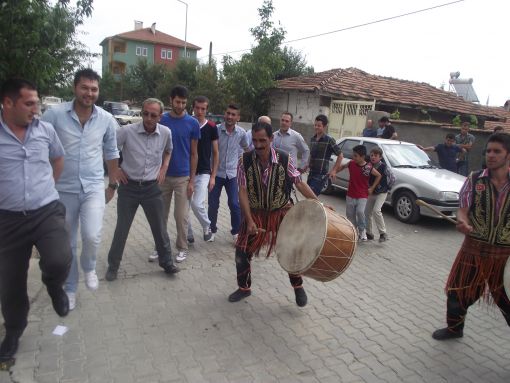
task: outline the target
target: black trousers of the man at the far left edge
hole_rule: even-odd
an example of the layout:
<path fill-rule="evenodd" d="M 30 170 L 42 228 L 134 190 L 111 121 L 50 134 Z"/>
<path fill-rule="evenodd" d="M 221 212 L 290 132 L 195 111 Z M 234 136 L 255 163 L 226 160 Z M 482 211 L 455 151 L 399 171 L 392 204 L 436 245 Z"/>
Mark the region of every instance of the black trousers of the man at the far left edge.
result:
<path fill-rule="evenodd" d="M 6 332 L 21 336 L 29 309 L 27 274 L 32 248 L 48 290 L 62 288 L 72 253 L 65 207 L 53 201 L 24 213 L 0 211 L 0 301 Z"/>

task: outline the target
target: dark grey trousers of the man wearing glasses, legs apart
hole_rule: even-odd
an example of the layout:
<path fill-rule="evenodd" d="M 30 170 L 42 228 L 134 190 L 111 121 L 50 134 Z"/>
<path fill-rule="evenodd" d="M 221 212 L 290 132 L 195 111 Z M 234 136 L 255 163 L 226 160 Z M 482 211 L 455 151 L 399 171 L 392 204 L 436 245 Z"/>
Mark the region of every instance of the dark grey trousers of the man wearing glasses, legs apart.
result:
<path fill-rule="evenodd" d="M 145 217 L 151 227 L 156 243 L 160 266 L 171 264 L 172 250 L 170 238 L 166 232 L 163 198 L 156 181 L 149 184 L 129 182 L 119 186 L 117 197 L 117 226 L 113 235 L 112 245 L 108 252 L 108 266 L 118 270 L 126 246 L 129 229 L 135 218 L 138 206 L 142 206 Z"/>

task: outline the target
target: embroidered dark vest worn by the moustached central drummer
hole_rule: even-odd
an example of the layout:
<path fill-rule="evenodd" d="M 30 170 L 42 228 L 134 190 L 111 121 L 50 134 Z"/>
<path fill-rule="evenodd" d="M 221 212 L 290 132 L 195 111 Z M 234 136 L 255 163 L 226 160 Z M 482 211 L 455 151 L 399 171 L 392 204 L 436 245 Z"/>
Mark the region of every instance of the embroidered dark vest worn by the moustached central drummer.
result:
<path fill-rule="evenodd" d="M 287 175 L 289 156 L 281 150 L 275 150 L 277 161 L 270 165 L 267 186 L 262 183 L 262 175 L 255 160 L 255 151 L 243 153 L 246 190 L 252 209 L 278 210 L 290 201 L 292 180 Z"/>

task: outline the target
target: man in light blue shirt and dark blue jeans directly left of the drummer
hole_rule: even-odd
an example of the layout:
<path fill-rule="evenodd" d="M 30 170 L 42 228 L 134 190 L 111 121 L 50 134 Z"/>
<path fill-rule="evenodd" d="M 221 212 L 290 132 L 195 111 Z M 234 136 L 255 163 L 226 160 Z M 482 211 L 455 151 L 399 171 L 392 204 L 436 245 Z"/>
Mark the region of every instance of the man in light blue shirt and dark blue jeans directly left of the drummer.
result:
<path fill-rule="evenodd" d="M 239 162 L 239 150 L 248 151 L 249 142 L 246 131 L 237 125 L 240 110 L 237 105 L 231 104 L 225 112 L 225 122 L 218 125 L 218 147 L 220 163 L 216 174 L 214 188 L 209 192 L 208 215 L 211 221 L 211 232 L 218 231 L 218 209 L 220 208 L 221 190 L 225 187 L 230 209 L 230 233 L 234 243 L 241 226 L 241 207 L 239 205 L 239 189 L 237 187 L 237 163 Z"/>

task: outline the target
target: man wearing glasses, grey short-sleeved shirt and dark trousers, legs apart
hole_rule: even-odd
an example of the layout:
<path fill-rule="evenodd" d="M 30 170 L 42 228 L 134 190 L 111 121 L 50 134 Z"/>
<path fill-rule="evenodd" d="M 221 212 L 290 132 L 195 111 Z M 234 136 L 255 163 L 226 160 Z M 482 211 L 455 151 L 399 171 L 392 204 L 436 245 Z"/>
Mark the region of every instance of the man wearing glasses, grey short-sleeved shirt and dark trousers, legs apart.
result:
<path fill-rule="evenodd" d="M 172 260 L 170 238 L 163 214 L 161 185 L 168 170 L 172 153 L 170 129 L 158 124 L 163 113 L 163 103 L 148 98 L 142 105 L 142 121 L 122 126 L 117 131 L 117 145 L 122 150 L 122 165 L 118 172 L 120 181 L 117 200 L 117 226 L 108 253 L 108 270 L 105 279 L 117 279 L 122 253 L 129 229 L 139 205 L 142 205 L 151 227 L 159 265 L 167 274 L 179 269 Z"/>

